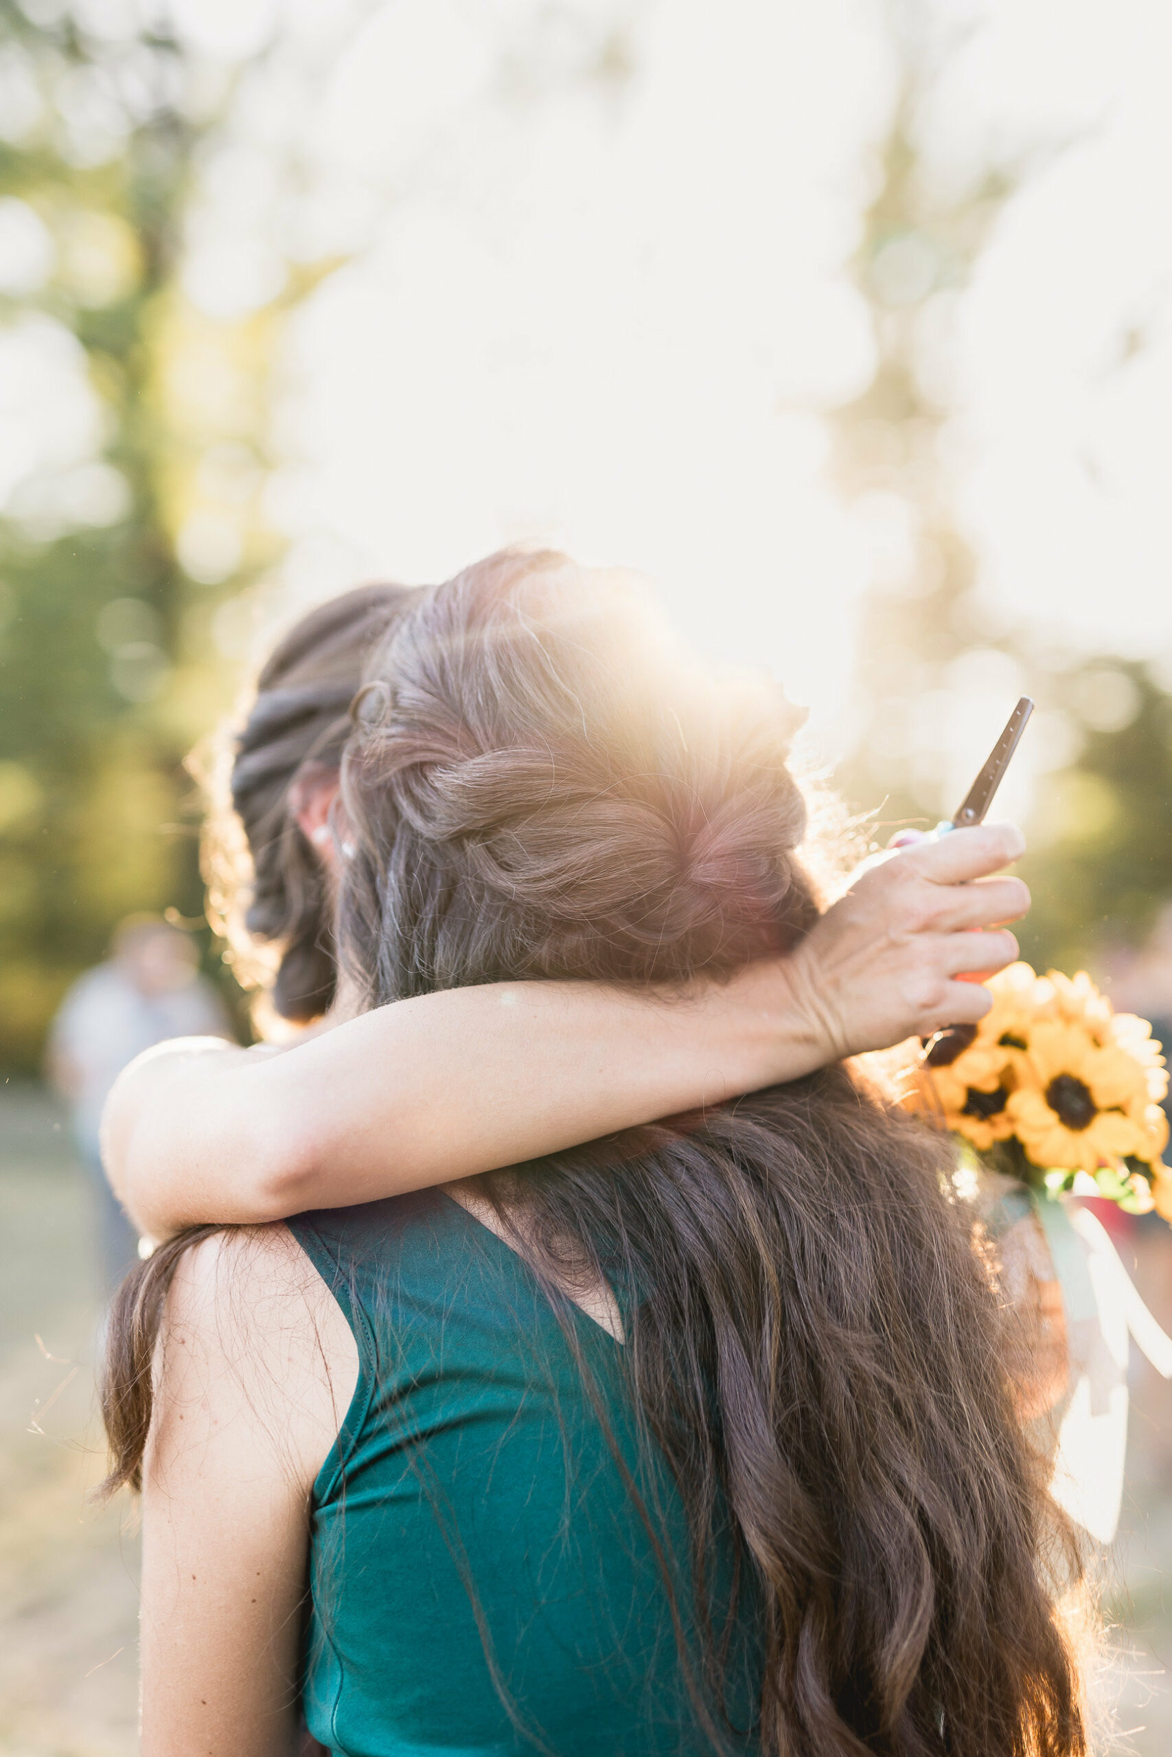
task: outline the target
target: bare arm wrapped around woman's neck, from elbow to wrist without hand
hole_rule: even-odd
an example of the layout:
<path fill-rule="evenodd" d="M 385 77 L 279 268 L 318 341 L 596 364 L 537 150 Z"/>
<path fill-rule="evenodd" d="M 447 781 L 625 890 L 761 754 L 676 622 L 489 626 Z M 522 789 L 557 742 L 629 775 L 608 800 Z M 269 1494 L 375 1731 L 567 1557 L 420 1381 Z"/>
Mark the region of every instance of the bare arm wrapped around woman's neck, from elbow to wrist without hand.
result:
<path fill-rule="evenodd" d="M 817 1065 L 771 966 L 692 994 L 450 989 L 276 1054 L 160 1045 L 111 1095 L 105 1163 L 153 1237 L 471 1177 Z M 803 1065 L 805 1063 L 805 1065 Z M 784 1077 L 784 1075 L 782 1075 Z"/>

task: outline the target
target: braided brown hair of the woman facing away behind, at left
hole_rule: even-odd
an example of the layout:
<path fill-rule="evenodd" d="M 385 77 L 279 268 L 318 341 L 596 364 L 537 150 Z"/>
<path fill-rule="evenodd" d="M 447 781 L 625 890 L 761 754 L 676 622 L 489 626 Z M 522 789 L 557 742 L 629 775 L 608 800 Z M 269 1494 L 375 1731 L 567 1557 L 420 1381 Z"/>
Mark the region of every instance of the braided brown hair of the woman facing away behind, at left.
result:
<path fill-rule="evenodd" d="M 411 587 L 362 585 L 302 617 L 260 671 L 230 770 L 211 787 L 209 915 L 239 980 L 269 989 L 285 1019 L 320 1017 L 336 987 L 327 873 L 290 791 L 337 771 L 367 654 L 418 597 Z"/>

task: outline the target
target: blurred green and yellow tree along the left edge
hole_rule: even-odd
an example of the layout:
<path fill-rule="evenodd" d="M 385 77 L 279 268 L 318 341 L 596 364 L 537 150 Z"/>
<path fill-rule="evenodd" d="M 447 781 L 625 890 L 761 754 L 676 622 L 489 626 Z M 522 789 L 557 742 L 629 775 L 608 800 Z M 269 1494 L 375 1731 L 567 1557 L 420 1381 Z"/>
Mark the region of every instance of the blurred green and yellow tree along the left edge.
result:
<path fill-rule="evenodd" d="M 119 915 L 202 921 L 183 759 L 235 687 L 216 617 L 239 622 L 278 553 L 258 506 L 279 323 L 337 262 L 253 235 L 188 295 L 244 69 L 163 19 L 0 0 L 0 1065 L 19 1068 Z"/>

